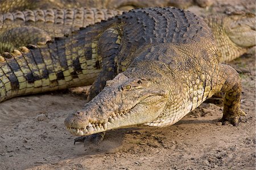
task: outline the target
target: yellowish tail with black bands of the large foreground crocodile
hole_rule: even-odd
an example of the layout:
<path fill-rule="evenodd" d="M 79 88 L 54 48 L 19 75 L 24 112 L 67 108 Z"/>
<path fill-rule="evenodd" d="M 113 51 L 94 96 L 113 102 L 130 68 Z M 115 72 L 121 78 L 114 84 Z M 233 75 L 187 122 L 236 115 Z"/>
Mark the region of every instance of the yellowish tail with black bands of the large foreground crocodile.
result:
<path fill-rule="evenodd" d="M 42 47 L 28 45 L 0 56 L 0 101 L 16 96 L 90 85 L 100 72 L 96 59 L 69 50 L 59 38 Z M 65 47 L 66 45 L 66 47 Z M 81 47 L 82 48 L 82 47 Z"/>

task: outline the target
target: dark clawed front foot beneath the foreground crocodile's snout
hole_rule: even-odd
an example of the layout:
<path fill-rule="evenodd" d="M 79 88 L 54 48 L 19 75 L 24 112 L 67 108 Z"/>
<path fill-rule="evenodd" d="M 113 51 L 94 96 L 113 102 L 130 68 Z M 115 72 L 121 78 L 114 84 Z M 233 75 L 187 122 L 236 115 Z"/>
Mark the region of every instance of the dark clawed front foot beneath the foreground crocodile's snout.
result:
<path fill-rule="evenodd" d="M 95 145 L 98 145 L 103 140 L 104 135 L 105 135 L 105 132 L 100 132 L 98 134 L 92 134 L 89 136 L 80 136 L 74 139 L 74 144 L 76 144 L 76 142 L 84 142 L 84 146 L 86 146 L 86 144 L 88 143 L 93 143 Z"/>

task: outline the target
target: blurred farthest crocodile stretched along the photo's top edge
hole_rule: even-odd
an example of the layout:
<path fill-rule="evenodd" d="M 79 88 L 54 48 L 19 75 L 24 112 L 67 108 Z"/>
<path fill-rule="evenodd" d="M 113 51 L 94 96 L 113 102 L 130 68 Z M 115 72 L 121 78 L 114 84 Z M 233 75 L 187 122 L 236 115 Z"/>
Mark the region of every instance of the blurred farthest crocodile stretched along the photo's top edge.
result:
<path fill-rule="evenodd" d="M 139 7 L 153 6 L 174 6 L 187 9 L 189 6 L 198 5 L 209 7 L 213 0 L 1 0 L 0 14 L 11 13 L 15 10 L 23 11 L 26 9 L 49 9 L 49 8 L 75 8 L 75 7 L 94 7 L 105 9 L 131 10 Z"/>

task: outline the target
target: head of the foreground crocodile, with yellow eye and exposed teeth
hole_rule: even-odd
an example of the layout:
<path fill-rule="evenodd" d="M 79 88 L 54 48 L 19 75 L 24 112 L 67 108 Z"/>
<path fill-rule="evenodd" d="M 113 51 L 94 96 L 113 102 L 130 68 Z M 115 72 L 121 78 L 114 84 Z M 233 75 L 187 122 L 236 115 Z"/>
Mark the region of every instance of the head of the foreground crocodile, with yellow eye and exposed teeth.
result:
<path fill-rule="evenodd" d="M 133 74 L 135 75 L 135 74 Z M 69 114 L 65 126 L 73 135 L 141 125 L 153 121 L 166 106 L 168 91 L 152 76 L 119 73 L 80 111 Z"/>

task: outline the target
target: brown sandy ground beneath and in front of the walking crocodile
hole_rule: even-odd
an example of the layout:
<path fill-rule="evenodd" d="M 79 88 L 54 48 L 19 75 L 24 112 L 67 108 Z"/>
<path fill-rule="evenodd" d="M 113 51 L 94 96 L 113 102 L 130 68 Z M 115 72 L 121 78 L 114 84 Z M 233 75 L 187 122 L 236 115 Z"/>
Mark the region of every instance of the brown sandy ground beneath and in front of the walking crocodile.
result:
<path fill-rule="evenodd" d="M 99 146 L 74 146 L 64 119 L 85 96 L 18 97 L 0 103 L 0 169 L 255 169 L 255 56 L 229 64 L 249 71 L 237 127 L 218 122 L 221 105 L 203 103 L 173 126 L 109 131 Z"/>

